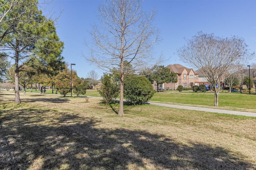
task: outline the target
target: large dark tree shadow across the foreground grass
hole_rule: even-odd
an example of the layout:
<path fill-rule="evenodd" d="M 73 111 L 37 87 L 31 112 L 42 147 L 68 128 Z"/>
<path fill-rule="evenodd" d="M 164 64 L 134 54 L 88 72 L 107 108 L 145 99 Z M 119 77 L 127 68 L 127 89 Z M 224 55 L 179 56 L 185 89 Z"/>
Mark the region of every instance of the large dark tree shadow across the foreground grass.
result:
<path fill-rule="evenodd" d="M 4 119 L 0 169 L 256 168 L 243 155 L 220 147 L 184 145 L 144 131 L 99 129 L 102 122 L 92 117 L 24 109 Z"/>

